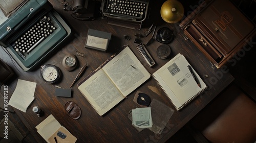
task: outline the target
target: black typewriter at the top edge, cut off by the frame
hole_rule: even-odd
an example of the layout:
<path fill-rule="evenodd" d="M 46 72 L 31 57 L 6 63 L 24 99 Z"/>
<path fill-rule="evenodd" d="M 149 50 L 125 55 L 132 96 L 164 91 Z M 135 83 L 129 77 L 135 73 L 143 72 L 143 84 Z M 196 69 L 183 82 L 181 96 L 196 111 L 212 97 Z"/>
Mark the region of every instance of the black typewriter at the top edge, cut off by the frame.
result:
<path fill-rule="evenodd" d="M 141 22 L 146 19 L 149 0 L 106 0 L 102 2 L 101 11 L 104 16 Z"/>

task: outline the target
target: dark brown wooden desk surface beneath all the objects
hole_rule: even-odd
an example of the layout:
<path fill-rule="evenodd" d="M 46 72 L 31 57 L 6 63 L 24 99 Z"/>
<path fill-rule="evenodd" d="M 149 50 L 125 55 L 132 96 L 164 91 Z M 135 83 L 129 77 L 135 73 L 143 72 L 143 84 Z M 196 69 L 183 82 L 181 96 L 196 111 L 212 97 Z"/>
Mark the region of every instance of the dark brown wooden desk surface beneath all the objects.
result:
<path fill-rule="evenodd" d="M 117 26 L 108 25 L 106 19 L 95 19 L 94 21 L 78 21 L 71 17 L 71 12 L 63 11 L 61 4 L 57 0 L 50 1 L 54 8 L 65 18 L 67 23 L 73 30 L 73 36 L 69 41 L 66 41 L 52 56 L 49 56 L 47 60 L 41 63 L 55 64 L 61 69 L 61 79 L 59 82 L 49 85 L 40 79 L 39 66 L 29 72 L 24 72 L 15 65 L 10 57 L 0 49 L 1 59 L 7 62 L 14 70 L 17 78 L 8 85 L 9 98 L 11 97 L 17 83 L 17 79 L 23 79 L 27 81 L 36 82 L 35 100 L 28 107 L 27 112 L 24 113 L 15 109 L 21 120 L 28 127 L 33 136 L 38 142 L 45 142 L 44 139 L 37 133 L 35 126 L 45 120 L 47 116 L 53 114 L 53 116 L 59 121 L 59 123 L 67 128 L 75 137 L 77 142 L 165 142 L 169 137 L 174 135 L 182 126 L 184 126 L 193 116 L 195 116 L 205 105 L 207 105 L 212 99 L 214 99 L 218 93 L 220 93 L 230 82 L 233 81 L 233 77 L 227 72 L 228 69 L 216 69 L 211 66 L 206 57 L 197 49 L 197 47 L 189 40 L 185 40 L 183 32 L 179 29 L 178 24 L 172 25 L 163 22 L 161 19 L 153 18 L 158 23 L 157 30 L 161 27 L 168 27 L 174 30 L 174 41 L 168 44 L 172 49 L 172 54 L 168 59 L 159 59 L 156 55 L 156 50 L 161 43 L 154 41 L 151 45 L 147 46 L 147 50 L 151 53 L 155 59 L 157 65 L 149 67 L 141 55 L 136 50 L 136 43 L 134 43 L 134 35 L 136 33 L 143 33 L 148 27 L 142 28 L 142 30 L 132 30 Z M 156 8 L 160 8 L 157 7 Z M 152 17 L 151 17 L 152 18 Z M 148 21 L 148 25 L 151 22 Z M 107 53 L 85 49 L 84 43 L 86 40 L 88 29 L 96 29 L 100 31 L 110 32 L 113 35 L 113 39 L 109 45 L 109 51 Z M 129 35 L 131 40 L 125 40 L 124 35 Z M 143 43 L 146 43 L 151 38 L 152 33 L 144 38 L 141 38 Z M 173 104 L 165 96 L 163 90 L 157 85 L 156 81 L 151 78 L 140 86 L 137 90 L 147 93 L 152 99 L 159 100 L 175 109 L 173 116 L 170 118 L 166 128 L 162 134 L 154 134 L 150 130 L 143 130 L 138 132 L 133 126 L 132 122 L 127 117 L 130 110 L 138 107 L 133 102 L 134 94 L 137 90 L 132 92 L 127 99 L 124 99 L 115 108 L 110 110 L 104 116 L 99 116 L 93 109 L 90 103 L 83 97 L 80 91 L 77 89 L 77 83 L 82 78 L 88 76 L 94 69 L 100 66 L 106 59 L 113 55 L 119 47 L 124 44 L 128 44 L 138 59 L 146 67 L 146 69 L 153 74 L 158 68 L 164 65 L 167 61 L 172 59 L 178 53 L 183 54 L 188 62 L 195 68 L 204 82 L 209 86 L 208 90 L 197 97 L 193 102 L 185 106 L 182 110 L 177 111 Z M 74 71 L 66 71 L 62 65 L 62 59 L 68 53 L 75 53 L 79 51 L 85 53 L 86 57 L 78 57 L 79 65 L 81 67 L 84 63 L 88 64 L 86 72 L 82 78 L 75 84 L 73 89 L 72 98 L 60 98 L 55 96 L 55 85 L 62 88 L 69 88 L 70 84 L 77 75 L 78 67 Z M 202 75 L 208 75 L 208 78 L 204 78 Z M 3 87 L 2 87 L 3 88 Z M 3 90 L 1 90 L 2 92 Z M 81 117 L 78 120 L 70 118 L 64 109 L 64 105 L 67 101 L 74 101 L 82 110 Z M 37 117 L 32 112 L 33 106 L 39 106 L 45 115 Z"/>

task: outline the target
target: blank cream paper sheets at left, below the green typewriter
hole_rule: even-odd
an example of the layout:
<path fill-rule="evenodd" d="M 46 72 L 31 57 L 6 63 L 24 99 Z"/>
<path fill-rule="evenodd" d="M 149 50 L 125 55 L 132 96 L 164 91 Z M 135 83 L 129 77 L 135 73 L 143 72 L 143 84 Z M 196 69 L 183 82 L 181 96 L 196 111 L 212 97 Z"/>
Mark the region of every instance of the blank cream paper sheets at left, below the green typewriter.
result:
<path fill-rule="evenodd" d="M 26 112 L 30 103 L 34 100 L 35 87 L 35 82 L 18 79 L 9 105 L 20 111 Z"/>

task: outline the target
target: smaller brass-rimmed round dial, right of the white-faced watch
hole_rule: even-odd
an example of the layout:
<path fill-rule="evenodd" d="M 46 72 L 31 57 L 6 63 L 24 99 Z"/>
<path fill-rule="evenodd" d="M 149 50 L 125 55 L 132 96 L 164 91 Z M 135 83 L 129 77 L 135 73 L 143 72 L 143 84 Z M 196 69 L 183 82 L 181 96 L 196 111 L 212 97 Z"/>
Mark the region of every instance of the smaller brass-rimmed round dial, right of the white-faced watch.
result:
<path fill-rule="evenodd" d="M 71 70 L 75 69 L 75 67 L 77 65 L 76 56 L 72 55 L 72 54 L 69 54 L 69 55 L 65 56 L 62 60 L 62 65 L 68 71 L 71 71 Z"/>

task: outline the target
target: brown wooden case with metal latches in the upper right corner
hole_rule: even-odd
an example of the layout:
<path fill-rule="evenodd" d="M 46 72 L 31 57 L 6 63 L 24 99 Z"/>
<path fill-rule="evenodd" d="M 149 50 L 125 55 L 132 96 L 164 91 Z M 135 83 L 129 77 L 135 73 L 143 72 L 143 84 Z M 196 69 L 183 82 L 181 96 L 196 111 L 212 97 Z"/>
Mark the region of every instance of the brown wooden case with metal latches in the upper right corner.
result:
<path fill-rule="evenodd" d="M 220 68 L 255 38 L 255 25 L 228 0 L 205 1 L 181 23 L 199 50 Z"/>

